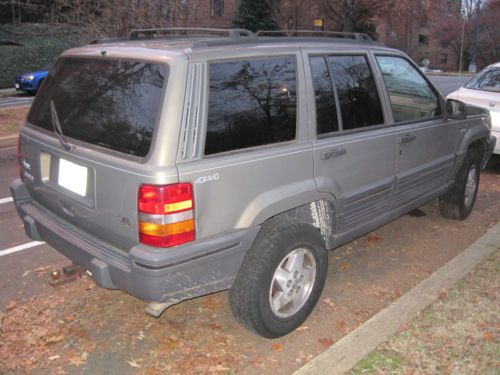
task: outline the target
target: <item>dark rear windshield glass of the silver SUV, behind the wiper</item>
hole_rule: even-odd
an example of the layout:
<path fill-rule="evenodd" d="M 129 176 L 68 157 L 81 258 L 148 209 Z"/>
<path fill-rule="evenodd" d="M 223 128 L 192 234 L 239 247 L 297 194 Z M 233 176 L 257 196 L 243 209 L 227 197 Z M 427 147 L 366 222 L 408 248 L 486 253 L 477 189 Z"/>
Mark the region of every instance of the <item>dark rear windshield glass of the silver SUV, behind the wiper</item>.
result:
<path fill-rule="evenodd" d="M 151 146 L 167 76 L 165 65 L 62 58 L 38 93 L 28 122 L 53 131 L 53 100 L 65 136 L 144 157 Z"/>

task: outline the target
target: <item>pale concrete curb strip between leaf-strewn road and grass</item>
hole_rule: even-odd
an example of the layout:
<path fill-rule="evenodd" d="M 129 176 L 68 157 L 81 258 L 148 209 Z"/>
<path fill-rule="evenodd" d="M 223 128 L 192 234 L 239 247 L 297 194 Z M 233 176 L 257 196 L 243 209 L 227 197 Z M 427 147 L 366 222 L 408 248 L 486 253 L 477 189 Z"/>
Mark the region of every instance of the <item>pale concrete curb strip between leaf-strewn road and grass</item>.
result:
<path fill-rule="evenodd" d="M 294 375 L 343 374 L 392 337 L 399 327 L 439 298 L 484 258 L 500 249 L 500 223 L 391 305 L 344 336 Z"/>

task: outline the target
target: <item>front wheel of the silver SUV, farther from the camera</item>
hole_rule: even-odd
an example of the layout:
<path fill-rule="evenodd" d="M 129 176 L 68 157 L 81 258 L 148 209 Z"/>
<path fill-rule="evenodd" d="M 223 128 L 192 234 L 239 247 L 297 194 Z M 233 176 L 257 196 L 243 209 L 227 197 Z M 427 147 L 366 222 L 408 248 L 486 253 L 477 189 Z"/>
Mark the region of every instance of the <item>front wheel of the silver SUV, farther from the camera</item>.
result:
<path fill-rule="evenodd" d="M 439 210 L 442 216 L 465 220 L 470 215 L 476 201 L 480 173 L 481 155 L 477 149 L 470 148 L 458 171 L 455 183 L 447 193 L 439 197 Z"/>

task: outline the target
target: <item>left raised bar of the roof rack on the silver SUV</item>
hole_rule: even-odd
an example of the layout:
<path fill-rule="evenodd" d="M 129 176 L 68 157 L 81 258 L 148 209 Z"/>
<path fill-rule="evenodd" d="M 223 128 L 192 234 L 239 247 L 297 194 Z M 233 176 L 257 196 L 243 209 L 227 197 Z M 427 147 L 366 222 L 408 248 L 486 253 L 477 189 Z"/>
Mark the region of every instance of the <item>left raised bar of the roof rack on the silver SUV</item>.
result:
<path fill-rule="evenodd" d="M 129 40 L 137 39 L 154 39 L 155 37 L 166 37 L 168 35 L 227 35 L 231 39 L 239 39 L 241 37 L 254 38 L 255 34 L 246 29 L 214 29 L 204 27 L 167 27 L 159 29 L 134 29 L 128 35 Z"/>

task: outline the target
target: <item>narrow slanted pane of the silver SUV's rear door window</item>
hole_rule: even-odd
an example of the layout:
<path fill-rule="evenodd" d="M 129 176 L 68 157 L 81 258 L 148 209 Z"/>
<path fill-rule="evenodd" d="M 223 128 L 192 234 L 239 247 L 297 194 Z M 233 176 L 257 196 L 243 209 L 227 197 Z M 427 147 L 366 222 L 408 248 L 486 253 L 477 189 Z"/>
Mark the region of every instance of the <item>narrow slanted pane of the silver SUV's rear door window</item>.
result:
<path fill-rule="evenodd" d="M 339 130 L 337 104 L 332 80 L 324 57 L 311 57 L 311 72 L 316 101 L 316 128 L 318 134 Z"/>

